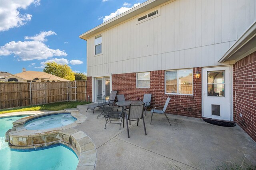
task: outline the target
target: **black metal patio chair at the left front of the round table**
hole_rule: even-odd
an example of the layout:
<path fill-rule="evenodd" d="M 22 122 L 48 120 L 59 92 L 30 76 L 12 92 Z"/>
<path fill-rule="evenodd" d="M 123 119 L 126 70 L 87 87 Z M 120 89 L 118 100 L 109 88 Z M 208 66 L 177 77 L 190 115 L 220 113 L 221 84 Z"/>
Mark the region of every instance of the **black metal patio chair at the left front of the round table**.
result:
<path fill-rule="evenodd" d="M 106 125 L 108 123 L 120 124 L 119 129 L 121 129 L 121 125 L 123 123 L 122 111 L 113 111 L 114 106 L 105 105 L 105 106 L 102 106 L 102 107 L 103 107 L 103 111 L 104 111 L 104 117 L 106 119 L 105 129 L 106 129 Z"/>

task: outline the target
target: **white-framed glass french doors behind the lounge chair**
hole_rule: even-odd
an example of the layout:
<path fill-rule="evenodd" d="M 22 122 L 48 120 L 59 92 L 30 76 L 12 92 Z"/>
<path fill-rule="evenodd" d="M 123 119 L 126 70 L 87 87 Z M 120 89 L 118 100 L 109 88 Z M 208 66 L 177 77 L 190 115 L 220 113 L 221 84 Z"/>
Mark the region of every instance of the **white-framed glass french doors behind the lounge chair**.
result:
<path fill-rule="evenodd" d="M 108 100 L 109 95 L 110 95 L 110 78 L 109 77 L 102 77 L 102 78 L 95 78 L 96 83 L 95 83 L 95 101 L 96 102 L 101 102 L 98 101 L 97 96 L 98 95 L 104 95 L 106 96 L 106 100 Z"/>

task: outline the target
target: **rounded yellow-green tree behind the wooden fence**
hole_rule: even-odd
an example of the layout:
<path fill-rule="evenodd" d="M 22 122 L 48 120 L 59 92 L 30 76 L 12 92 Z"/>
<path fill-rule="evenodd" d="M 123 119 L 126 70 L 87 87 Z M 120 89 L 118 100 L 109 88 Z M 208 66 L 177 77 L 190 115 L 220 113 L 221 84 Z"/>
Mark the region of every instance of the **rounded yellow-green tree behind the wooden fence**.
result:
<path fill-rule="evenodd" d="M 70 81 L 75 80 L 74 72 L 71 70 L 70 66 L 67 64 L 58 64 L 56 62 L 48 62 L 45 63 L 44 72 L 48 74 L 52 74 L 54 76 L 58 76 L 61 78 L 65 78 Z"/>

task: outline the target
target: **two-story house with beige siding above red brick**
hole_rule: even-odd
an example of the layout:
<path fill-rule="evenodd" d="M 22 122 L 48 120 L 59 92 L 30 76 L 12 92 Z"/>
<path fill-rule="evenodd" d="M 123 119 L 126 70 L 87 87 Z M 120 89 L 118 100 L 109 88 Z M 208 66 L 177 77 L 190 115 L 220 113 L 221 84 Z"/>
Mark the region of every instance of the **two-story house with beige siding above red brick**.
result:
<path fill-rule="evenodd" d="M 235 121 L 256 141 L 255 21 L 255 0 L 148 0 L 80 35 L 90 101 L 169 96 L 167 113 Z"/>

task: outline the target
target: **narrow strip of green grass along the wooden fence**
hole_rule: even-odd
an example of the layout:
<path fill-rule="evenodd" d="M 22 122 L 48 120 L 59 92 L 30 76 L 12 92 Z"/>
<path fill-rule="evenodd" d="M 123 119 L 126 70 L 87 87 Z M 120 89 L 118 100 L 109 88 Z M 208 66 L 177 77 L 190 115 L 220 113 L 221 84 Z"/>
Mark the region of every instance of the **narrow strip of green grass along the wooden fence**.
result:
<path fill-rule="evenodd" d="M 76 108 L 78 105 L 88 104 L 89 102 L 56 102 L 51 104 L 42 104 L 36 106 L 24 106 L 16 107 L 12 109 L 0 109 L 0 114 L 18 112 L 18 111 L 38 111 L 38 110 L 50 110 L 57 111 L 63 109 Z"/>

